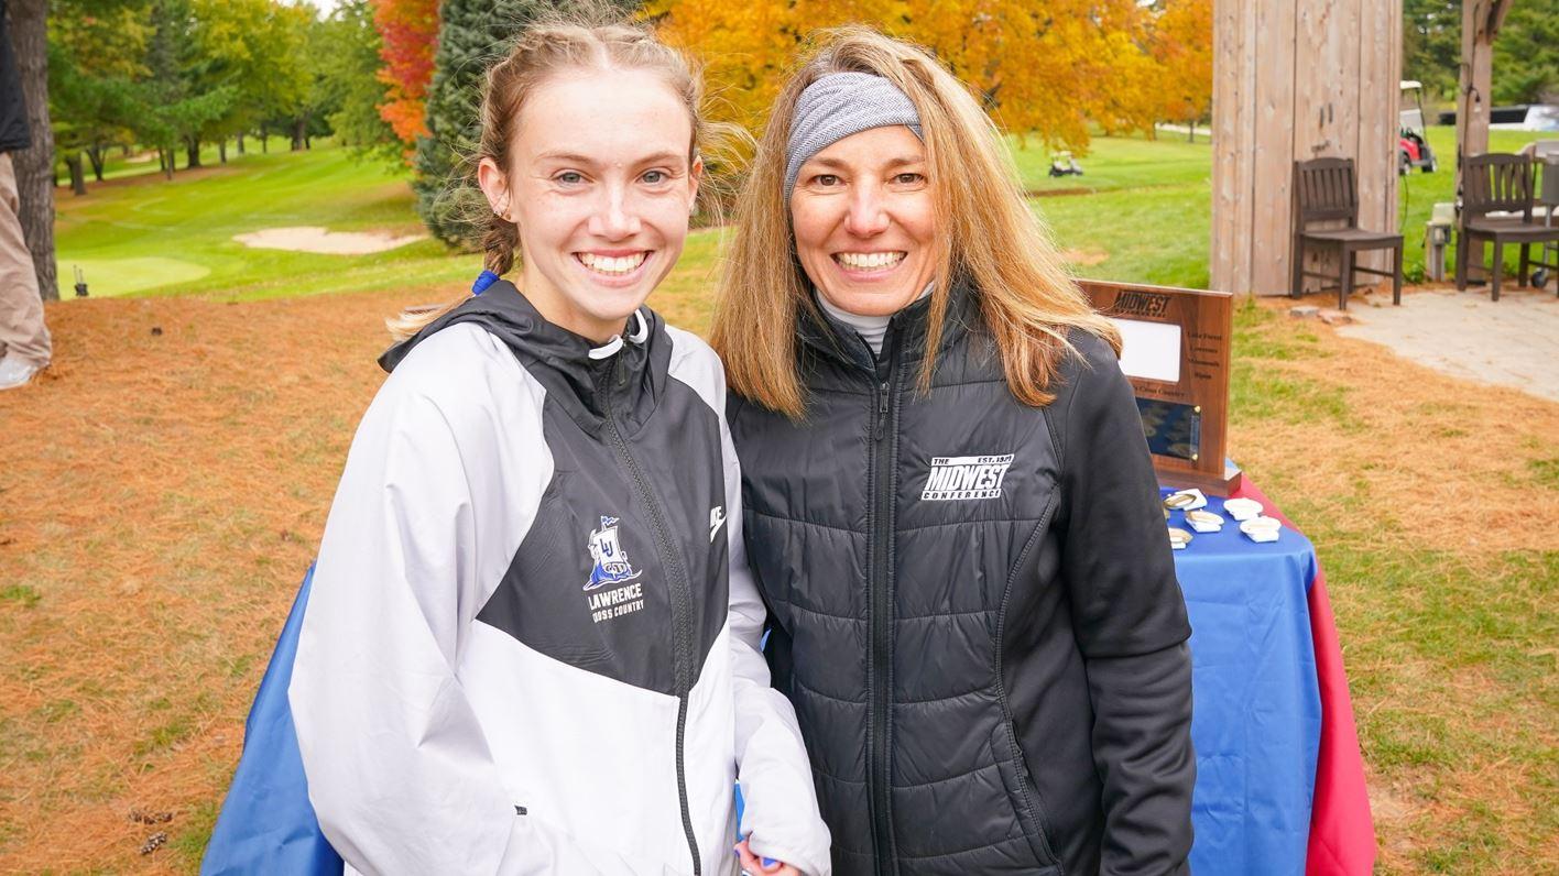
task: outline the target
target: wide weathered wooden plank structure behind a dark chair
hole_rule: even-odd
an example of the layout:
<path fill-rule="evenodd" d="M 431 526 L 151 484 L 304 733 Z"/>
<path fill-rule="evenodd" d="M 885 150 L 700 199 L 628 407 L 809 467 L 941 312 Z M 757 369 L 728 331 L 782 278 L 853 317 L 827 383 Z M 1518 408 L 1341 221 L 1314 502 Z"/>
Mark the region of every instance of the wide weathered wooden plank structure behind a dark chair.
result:
<path fill-rule="evenodd" d="M 1213 288 L 1288 293 L 1294 161 L 1355 159 L 1397 228 L 1402 0 L 1216 0 L 1213 56 Z"/>

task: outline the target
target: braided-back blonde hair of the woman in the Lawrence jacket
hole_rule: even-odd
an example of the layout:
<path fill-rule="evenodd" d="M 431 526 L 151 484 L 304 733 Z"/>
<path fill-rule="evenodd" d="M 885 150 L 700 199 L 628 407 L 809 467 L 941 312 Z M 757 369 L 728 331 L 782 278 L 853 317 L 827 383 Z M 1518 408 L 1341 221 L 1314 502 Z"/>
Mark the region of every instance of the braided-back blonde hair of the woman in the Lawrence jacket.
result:
<path fill-rule="evenodd" d="M 511 171 L 510 143 L 525 100 L 539 84 L 569 70 L 658 73 L 681 98 L 692 120 L 689 164 L 703 150 L 719 150 L 728 140 L 728 126 L 705 117 L 703 76 L 683 53 L 656 39 L 649 26 L 630 22 L 622 12 L 592 3 L 575 6 L 578 8 L 571 14 L 553 12 L 529 25 L 513 48 L 488 67 L 482 81 L 480 137 L 471 153 L 463 156 L 465 173 L 457 187 L 475 185 L 482 159 L 491 159 L 505 175 Z M 514 268 L 519 257 L 519 226 L 494 214 L 485 200 L 474 201 L 465 218 L 480 240 L 483 267 L 502 276 Z M 468 298 L 438 307 L 402 310 L 385 320 L 385 326 L 396 340 L 410 338 Z"/>

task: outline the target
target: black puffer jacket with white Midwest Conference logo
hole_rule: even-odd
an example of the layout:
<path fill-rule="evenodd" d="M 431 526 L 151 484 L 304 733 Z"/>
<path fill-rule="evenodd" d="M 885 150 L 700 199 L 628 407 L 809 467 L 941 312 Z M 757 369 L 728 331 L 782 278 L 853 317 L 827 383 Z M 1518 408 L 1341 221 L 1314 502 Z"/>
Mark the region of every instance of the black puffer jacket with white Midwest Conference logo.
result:
<path fill-rule="evenodd" d="M 747 546 L 840 874 L 1175 873 L 1191 662 L 1130 385 L 1082 332 L 1020 404 L 954 291 L 882 354 L 803 316 L 808 419 L 730 404 Z"/>

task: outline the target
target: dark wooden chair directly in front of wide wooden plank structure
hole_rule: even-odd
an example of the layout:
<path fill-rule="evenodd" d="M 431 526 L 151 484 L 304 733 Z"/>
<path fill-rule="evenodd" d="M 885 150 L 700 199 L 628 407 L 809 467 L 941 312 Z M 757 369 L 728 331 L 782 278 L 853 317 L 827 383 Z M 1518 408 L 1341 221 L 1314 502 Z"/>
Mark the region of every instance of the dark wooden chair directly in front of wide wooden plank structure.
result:
<path fill-rule="evenodd" d="M 1311 223 L 1342 221 L 1342 228 L 1311 229 Z M 1353 276 L 1375 274 L 1391 277 L 1391 302 L 1402 304 L 1402 235 L 1366 231 L 1359 226 L 1359 192 L 1353 176 L 1353 159 L 1317 157 L 1294 162 L 1294 276 L 1289 295 L 1299 298 L 1305 291 L 1305 277 L 1338 281 L 1338 307 L 1347 310 L 1349 295 L 1353 295 Z M 1322 249 L 1338 254 L 1338 274 L 1322 274 L 1305 270 L 1305 251 Z M 1359 253 L 1370 249 L 1394 251 L 1391 271 L 1377 271 L 1356 265 Z"/>

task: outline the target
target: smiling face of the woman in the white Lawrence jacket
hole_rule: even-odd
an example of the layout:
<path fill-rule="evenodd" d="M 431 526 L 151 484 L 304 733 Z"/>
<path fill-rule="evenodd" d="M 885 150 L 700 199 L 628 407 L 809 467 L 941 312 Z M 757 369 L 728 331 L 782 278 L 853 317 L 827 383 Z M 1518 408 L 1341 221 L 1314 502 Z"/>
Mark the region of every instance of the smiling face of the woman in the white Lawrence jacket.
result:
<path fill-rule="evenodd" d="M 538 84 L 510 167 L 482 159 L 488 203 L 519 226 L 522 287 L 550 323 L 603 343 L 677 263 L 698 192 L 692 118 L 642 70 L 574 70 Z"/>

